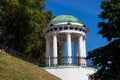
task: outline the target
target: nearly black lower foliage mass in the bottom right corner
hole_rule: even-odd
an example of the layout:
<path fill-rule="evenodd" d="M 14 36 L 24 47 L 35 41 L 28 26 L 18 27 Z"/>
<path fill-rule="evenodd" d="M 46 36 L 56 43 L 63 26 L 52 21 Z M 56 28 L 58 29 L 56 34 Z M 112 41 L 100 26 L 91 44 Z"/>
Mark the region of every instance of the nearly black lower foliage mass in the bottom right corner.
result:
<path fill-rule="evenodd" d="M 120 79 L 120 39 L 114 40 L 104 47 L 89 52 L 89 58 L 99 68 L 92 75 L 93 80 L 119 80 Z M 116 79 L 115 79 L 116 78 Z"/>

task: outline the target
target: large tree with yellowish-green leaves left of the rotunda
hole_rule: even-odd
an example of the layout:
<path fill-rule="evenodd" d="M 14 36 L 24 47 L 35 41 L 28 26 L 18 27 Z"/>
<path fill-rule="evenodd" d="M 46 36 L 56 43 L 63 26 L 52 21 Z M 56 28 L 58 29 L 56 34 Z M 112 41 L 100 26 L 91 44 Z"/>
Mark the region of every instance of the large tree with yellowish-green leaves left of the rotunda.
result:
<path fill-rule="evenodd" d="M 44 56 L 43 28 L 52 17 L 45 0 L 0 0 L 0 39 L 4 46 L 35 59 Z M 3 37 L 4 36 L 4 37 Z"/>

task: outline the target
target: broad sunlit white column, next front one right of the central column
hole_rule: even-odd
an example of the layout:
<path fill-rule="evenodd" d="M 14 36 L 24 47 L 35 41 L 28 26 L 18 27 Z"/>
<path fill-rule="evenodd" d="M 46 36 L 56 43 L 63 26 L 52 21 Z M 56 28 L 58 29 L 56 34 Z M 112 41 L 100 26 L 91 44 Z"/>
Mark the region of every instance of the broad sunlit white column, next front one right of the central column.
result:
<path fill-rule="evenodd" d="M 83 59 L 83 57 L 84 57 L 84 48 L 83 48 L 83 36 L 82 35 L 80 35 L 79 36 L 79 57 L 80 57 L 80 64 L 81 65 L 84 65 L 84 59 Z"/>

